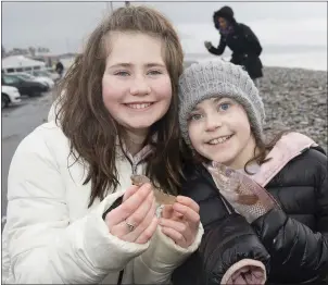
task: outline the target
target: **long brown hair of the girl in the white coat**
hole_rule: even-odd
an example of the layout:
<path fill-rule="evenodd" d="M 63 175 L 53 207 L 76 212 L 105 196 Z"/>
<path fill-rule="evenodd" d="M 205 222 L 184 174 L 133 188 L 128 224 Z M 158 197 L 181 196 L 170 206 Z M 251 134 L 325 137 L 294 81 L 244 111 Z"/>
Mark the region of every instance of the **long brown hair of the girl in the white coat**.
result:
<path fill-rule="evenodd" d="M 55 120 L 70 139 L 75 162 L 88 164 L 84 185 L 91 181 L 89 207 L 96 198 L 102 200 L 108 190 L 119 184 L 115 166 L 115 141 L 122 127 L 111 116 L 102 101 L 102 76 L 111 32 L 142 33 L 162 40 L 173 97 L 167 113 L 153 126 L 148 141 L 154 152 L 148 159 L 147 175 L 167 193 L 176 194 L 181 166 L 179 159 L 179 127 L 177 83 L 182 72 L 184 53 L 172 24 L 161 13 L 146 7 L 119 8 L 109 15 L 90 35 L 84 52 L 67 71 L 60 87 Z M 111 42 L 110 42 L 111 44 Z M 151 141 L 153 134 L 156 141 Z M 121 145 L 122 147 L 122 145 Z"/>

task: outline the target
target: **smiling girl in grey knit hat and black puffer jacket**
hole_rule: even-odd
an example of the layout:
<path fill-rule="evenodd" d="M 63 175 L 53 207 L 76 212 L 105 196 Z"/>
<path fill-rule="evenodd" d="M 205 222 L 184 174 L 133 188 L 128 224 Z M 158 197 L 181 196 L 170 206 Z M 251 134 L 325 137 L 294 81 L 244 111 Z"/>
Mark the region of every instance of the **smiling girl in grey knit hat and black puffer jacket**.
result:
<path fill-rule="evenodd" d="M 245 255 L 261 261 L 258 255 L 252 255 L 255 241 L 244 243 L 241 235 L 230 243 L 230 247 L 237 247 L 235 251 L 220 253 L 226 246 L 214 239 L 212 232 L 227 219 L 230 231 L 238 232 L 231 215 L 245 218 L 243 221 L 269 253 L 269 283 L 327 278 L 328 178 L 324 150 L 305 135 L 292 132 L 266 144 L 265 110 L 258 90 L 247 72 L 231 63 L 217 60 L 191 65 L 180 76 L 179 98 L 181 135 L 192 154 L 181 195 L 200 205 L 205 234 L 199 256 L 206 284 L 222 282 L 216 273 L 227 259 Z M 232 184 L 219 184 L 219 172 L 213 165 L 228 166 L 229 173 L 249 184 L 234 189 Z M 253 211 L 251 216 L 248 210 L 252 206 L 244 203 L 253 202 L 240 199 L 238 194 L 248 187 L 261 189 L 256 202 L 265 206 L 264 211 Z M 194 263 L 187 265 L 190 272 Z"/>

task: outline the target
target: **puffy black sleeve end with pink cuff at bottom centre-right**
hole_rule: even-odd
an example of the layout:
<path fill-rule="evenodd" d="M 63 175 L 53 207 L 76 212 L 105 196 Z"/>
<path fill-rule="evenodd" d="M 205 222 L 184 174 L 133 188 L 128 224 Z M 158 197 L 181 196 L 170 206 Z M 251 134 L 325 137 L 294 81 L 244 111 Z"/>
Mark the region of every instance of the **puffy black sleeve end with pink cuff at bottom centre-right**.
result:
<path fill-rule="evenodd" d="M 247 260 L 261 267 L 265 276 L 269 269 L 269 253 L 245 219 L 237 213 L 213 224 L 199 251 L 204 269 L 202 284 L 222 284 L 230 268 Z"/>

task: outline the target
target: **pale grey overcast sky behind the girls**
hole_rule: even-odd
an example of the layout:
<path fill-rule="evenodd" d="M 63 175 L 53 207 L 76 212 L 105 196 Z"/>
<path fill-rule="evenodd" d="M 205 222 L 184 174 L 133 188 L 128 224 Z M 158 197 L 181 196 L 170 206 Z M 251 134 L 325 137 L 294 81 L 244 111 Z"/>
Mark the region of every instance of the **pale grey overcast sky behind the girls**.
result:
<path fill-rule="evenodd" d="M 203 40 L 217 44 L 215 10 L 228 4 L 238 22 L 248 24 L 264 46 L 305 45 L 327 49 L 326 2 L 135 2 L 163 12 L 177 27 L 184 48 L 203 51 Z M 124 2 L 114 2 L 114 8 Z M 43 46 L 53 53 L 75 52 L 105 16 L 105 2 L 2 2 L 5 49 Z"/>

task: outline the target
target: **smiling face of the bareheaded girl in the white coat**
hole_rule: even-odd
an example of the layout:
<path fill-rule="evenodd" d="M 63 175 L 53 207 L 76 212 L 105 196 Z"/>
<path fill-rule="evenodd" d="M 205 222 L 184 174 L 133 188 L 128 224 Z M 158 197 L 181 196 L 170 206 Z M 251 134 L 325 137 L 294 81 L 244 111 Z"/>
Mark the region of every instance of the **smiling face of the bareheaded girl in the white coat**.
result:
<path fill-rule="evenodd" d="M 172 84 L 161 39 L 112 33 L 102 77 L 102 98 L 116 122 L 129 131 L 147 131 L 167 112 Z"/>

